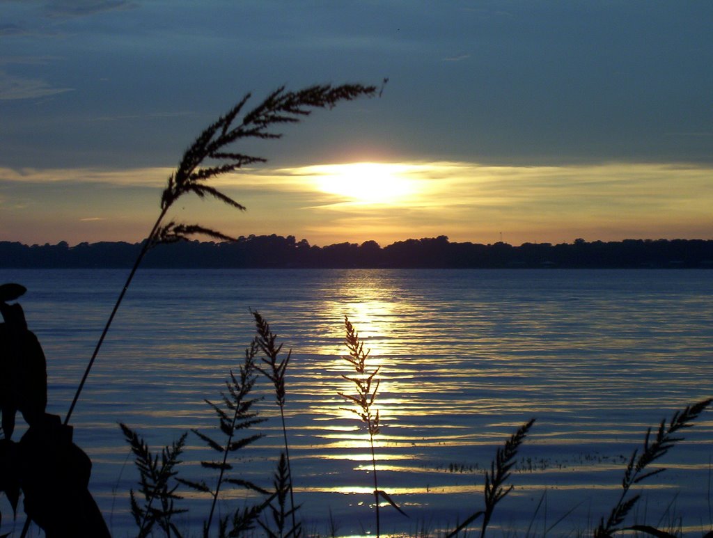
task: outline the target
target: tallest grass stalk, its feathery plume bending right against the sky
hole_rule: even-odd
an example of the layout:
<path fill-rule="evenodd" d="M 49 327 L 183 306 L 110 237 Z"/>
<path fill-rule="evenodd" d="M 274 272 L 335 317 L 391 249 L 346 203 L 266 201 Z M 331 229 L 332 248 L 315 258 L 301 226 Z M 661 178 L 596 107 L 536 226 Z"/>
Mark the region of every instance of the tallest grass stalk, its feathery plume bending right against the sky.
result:
<path fill-rule="evenodd" d="M 251 97 L 251 94 L 247 93 L 225 115 L 222 115 L 200 133 L 198 138 L 183 154 L 178 168 L 168 177 L 168 185 L 161 194 L 158 218 L 153 224 L 147 239 L 143 242 L 138 257 L 106 321 L 106 325 L 69 406 L 64 420 L 65 424 L 69 423 L 79 395 L 94 361 L 96 361 L 116 312 L 148 251 L 157 244 L 187 240 L 195 234 L 205 234 L 220 240 L 231 239 L 222 232 L 202 227 L 199 224 L 182 224 L 173 220 L 163 224 L 174 202 L 188 192 L 193 192 L 200 198 L 210 196 L 231 207 L 244 211 L 245 207 L 238 202 L 235 202 L 235 200 L 232 200 L 232 198 L 226 196 L 215 187 L 210 187 L 210 185 L 206 184 L 208 180 L 234 172 L 242 167 L 259 162 L 267 162 L 264 157 L 245 155 L 231 150 L 231 146 L 234 143 L 252 138 L 264 140 L 282 138 L 282 133 L 272 130 L 275 126 L 285 123 L 298 123 L 302 118 L 309 115 L 314 108 L 333 108 L 340 101 L 354 100 L 362 96 L 371 97 L 375 93 L 376 86 L 362 86 L 361 84 L 343 84 L 342 86 L 322 84 L 308 86 L 297 91 L 288 91 L 282 86 L 267 95 L 259 105 L 242 115 L 242 118 L 238 120 L 238 116 L 242 113 L 243 108 L 245 108 L 247 101 Z"/>

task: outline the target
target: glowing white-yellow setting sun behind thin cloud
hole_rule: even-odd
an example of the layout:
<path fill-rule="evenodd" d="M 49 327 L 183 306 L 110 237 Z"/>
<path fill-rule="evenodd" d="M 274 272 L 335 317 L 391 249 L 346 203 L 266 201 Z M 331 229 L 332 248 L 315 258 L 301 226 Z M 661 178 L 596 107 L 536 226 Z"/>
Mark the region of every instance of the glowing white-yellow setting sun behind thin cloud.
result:
<path fill-rule="evenodd" d="M 362 204 L 396 204 L 416 192 L 406 167 L 380 162 L 352 162 L 312 167 L 322 192 Z"/>

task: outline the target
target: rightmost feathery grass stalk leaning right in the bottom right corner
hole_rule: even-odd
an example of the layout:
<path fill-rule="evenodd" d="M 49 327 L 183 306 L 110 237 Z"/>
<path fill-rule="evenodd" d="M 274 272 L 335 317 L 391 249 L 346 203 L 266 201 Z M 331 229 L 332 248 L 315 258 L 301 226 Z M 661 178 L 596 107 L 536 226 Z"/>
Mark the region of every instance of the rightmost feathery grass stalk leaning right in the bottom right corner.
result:
<path fill-rule="evenodd" d="M 619 500 L 615 507 L 612 508 L 606 522 L 603 517 L 600 519 L 600 523 L 594 532 L 595 538 L 608 538 L 615 532 L 621 530 L 635 530 L 637 532 L 651 534 L 652 536 L 665 535 L 659 529 L 648 525 L 621 527 L 627 514 L 641 497 L 640 494 L 628 497 L 629 492 L 632 486 L 642 482 L 642 480 L 658 475 L 666 470 L 665 467 L 649 470 L 649 466 L 660 457 L 666 455 L 676 443 L 683 440 L 682 437 L 676 434 L 679 433 L 680 430 L 690 428 L 693 425 L 692 420 L 695 420 L 712 401 L 713 400 L 710 399 L 702 400 L 699 403 L 688 405 L 684 410 L 674 413 L 668 425 L 666 425 L 665 419 L 662 420 L 656 436 L 653 439 L 651 438 L 651 428 L 647 430 L 643 450 L 639 452 L 638 449 L 635 449 L 634 452 L 632 452 L 626 471 L 624 472 L 624 478 L 622 479 L 622 492 L 619 496 Z"/>

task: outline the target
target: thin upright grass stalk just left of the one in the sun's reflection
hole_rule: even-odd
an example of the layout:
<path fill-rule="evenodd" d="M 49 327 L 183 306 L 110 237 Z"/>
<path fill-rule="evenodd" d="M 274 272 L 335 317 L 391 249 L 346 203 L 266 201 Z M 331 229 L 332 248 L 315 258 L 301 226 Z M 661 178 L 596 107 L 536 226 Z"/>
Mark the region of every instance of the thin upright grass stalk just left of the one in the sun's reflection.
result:
<path fill-rule="evenodd" d="M 295 520 L 297 507 L 294 505 L 292 467 L 289 464 L 287 426 L 284 422 L 284 374 L 287 370 L 287 365 L 289 364 L 289 358 L 292 357 L 292 349 L 287 351 L 287 356 L 280 361 L 279 353 L 282 351 L 282 343 L 279 344 L 279 346 L 277 345 L 277 335 L 270 331 L 270 324 L 265 321 L 265 318 L 263 318 L 259 312 L 253 312 L 252 316 L 255 318 L 255 328 L 257 330 L 255 341 L 257 342 L 257 346 L 260 347 L 262 353 L 265 354 L 265 357 L 262 358 L 262 362 L 267 366 L 267 368 L 262 368 L 261 366 L 256 366 L 256 368 L 260 371 L 260 373 L 262 373 L 263 376 L 270 379 L 272 384 L 275 386 L 275 401 L 279 407 L 279 417 L 282 419 L 282 438 L 284 440 L 284 457 L 287 466 L 287 487 L 289 489 L 289 514 L 292 517 L 292 529 L 297 529 L 297 523 Z"/>

